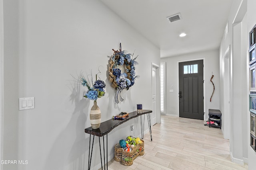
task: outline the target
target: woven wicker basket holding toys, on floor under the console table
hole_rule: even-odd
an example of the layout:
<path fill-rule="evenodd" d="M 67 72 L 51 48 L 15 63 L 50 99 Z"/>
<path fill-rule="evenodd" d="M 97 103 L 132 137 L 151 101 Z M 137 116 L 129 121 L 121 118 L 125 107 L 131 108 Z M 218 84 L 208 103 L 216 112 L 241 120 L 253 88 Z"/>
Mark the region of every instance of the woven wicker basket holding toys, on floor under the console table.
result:
<path fill-rule="evenodd" d="M 121 162 L 123 165 L 130 166 L 133 164 L 133 160 L 138 156 L 144 155 L 144 141 L 136 145 L 131 152 L 126 152 L 120 147 L 119 144 L 115 145 L 115 157 L 114 160 Z"/>

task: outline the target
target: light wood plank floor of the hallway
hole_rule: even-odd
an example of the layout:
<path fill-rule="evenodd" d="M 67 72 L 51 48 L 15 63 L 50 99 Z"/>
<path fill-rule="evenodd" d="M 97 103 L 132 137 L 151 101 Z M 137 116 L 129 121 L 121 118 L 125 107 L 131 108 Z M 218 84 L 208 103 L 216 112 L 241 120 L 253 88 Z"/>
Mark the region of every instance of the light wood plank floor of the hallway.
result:
<path fill-rule="evenodd" d="M 162 115 L 152 127 L 152 138 L 144 135 L 145 154 L 131 166 L 112 159 L 109 170 L 246 170 L 231 162 L 229 141 L 222 131 L 204 126 L 205 121 Z"/>

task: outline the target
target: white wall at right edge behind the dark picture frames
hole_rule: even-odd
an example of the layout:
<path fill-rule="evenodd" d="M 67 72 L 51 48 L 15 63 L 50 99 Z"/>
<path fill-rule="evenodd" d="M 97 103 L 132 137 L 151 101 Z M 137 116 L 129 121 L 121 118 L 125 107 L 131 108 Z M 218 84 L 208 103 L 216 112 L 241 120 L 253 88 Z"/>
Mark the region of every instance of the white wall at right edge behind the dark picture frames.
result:
<path fill-rule="evenodd" d="M 250 30 L 252 29 L 252 27 L 256 24 L 256 1 L 255 0 L 247 0 L 247 36 L 249 35 Z M 248 41 L 247 41 L 248 42 Z M 247 43 L 247 47 L 248 47 Z M 248 49 L 247 49 L 248 50 Z M 247 53 L 248 55 L 248 53 Z M 248 70 L 248 69 L 247 69 Z M 247 78 L 248 76 L 248 72 L 247 71 Z M 249 78 L 248 78 L 249 80 Z M 249 81 L 247 81 L 247 88 L 249 87 Z M 247 100 L 248 101 L 248 100 Z M 249 104 L 247 104 L 247 107 L 249 106 Z M 250 122 L 250 112 L 247 109 L 247 121 Z M 250 134 L 250 123 L 247 124 L 247 134 L 249 136 Z M 250 137 L 248 137 L 248 165 L 249 165 L 249 169 L 253 170 L 256 167 L 256 152 L 254 152 L 254 150 L 250 147 Z"/>

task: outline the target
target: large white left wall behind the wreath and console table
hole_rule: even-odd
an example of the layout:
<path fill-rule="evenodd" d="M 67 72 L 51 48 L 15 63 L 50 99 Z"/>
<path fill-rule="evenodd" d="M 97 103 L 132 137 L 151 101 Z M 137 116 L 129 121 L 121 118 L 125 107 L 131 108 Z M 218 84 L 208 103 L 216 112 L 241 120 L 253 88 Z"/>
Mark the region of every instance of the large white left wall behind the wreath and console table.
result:
<path fill-rule="evenodd" d="M 102 66 L 100 78 L 107 82 L 107 56 L 119 41 L 123 50 L 136 49 L 140 78 L 118 105 L 107 82 L 106 95 L 97 100 L 102 121 L 134 111 L 137 103 L 152 109 L 151 63 L 160 65 L 160 50 L 99 0 L 4 0 L 4 19 L 4 159 L 28 160 L 27 165 L 4 165 L 5 170 L 87 168 L 89 135 L 84 128 L 90 127 L 93 102 L 82 97 L 86 89 L 74 84 L 70 74 L 96 73 Z M 22 97 L 35 97 L 35 109 L 18 111 Z M 138 122 L 108 134 L 109 159 L 120 139 L 140 135 Z M 134 134 L 131 124 L 136 125 Z M 100 166 L 98 150 L 94 148 L 92 169 Z"/>

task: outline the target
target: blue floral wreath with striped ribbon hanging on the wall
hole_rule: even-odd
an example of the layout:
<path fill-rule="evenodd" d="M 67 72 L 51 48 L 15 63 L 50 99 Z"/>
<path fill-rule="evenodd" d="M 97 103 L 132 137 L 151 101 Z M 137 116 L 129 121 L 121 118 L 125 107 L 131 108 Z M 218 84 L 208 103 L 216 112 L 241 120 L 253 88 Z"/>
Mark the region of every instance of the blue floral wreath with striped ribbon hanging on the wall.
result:
<path fill-rule="evenodd" d="M 115 94 L 115 103 L 118 104 L 118 96 L 120 96 L 120 101 L 123 102 L 124 99 L 121 96 L 122 90 L 128 90 L 131 86 L 134 85 L 135 79 L 138 76 L 135 76 L 135 67 L 134 65 L 138 64 L 137 57 L 133 59 L 133 54 L 129 54 L 126 51 L 122 51 L 121 43 L 119 51 L 114 51 L 113 55 L 110 56 L 108 64 L 108 80 L 112 83 L 112 87 L 116 88 Z M 122 73 L 118 66 L 124 66 L 125 72 Z"/>

